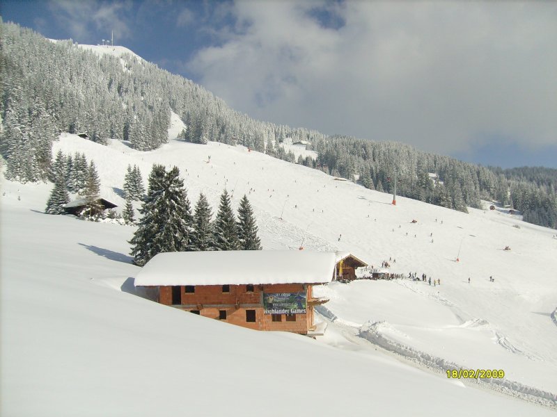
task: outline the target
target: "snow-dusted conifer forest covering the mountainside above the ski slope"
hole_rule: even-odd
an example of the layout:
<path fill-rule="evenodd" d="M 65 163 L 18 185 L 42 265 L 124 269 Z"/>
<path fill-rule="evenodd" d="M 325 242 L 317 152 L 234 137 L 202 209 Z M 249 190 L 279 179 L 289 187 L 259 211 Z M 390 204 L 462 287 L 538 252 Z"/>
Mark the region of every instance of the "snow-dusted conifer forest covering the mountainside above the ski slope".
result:
<path fill-rule="evenodd" d="M 480 208 L 480 199 L 492 200 L 520 211 L 526 222 L 557 228 L 557 170 L 484 167 L 382 138 L 329 136 L 253 120 L 201 85 L 138 56 L 97 56 L 72 40 L 53 42 L 30 29 L 1 21 L 0 35 L 0 152 L 6 161 L 6 177 L 55 183 L 56 193 L 53 191 L 47 206 L 49 213 L 58 213 L 68 198 L 60 177 L 65 178 L 70 192 L 88 190 L 91 194 L 95 190 L 94 163 L 87 165 L 77 155 L 70 161 L 68 156 L 52 155 L 52 142 L 59 133 L 86 134 L 101 144 L 109 138 L 122 140 L 134 149 L 148 151 L 168 140 L 173 111 L 186 125 L 179 138 L 189 142 L 244 145 L 384 192 L 392 192 L 392 178 L 396 176 L 397 194 L 404 197 L 464 212 L 467 206 Z M 286 138 L 307 142 L 307 148 L 317 157 L 300 156 L 296 160 L 281 146 Z M 180 195 L 178 172 L 151 175 L 156 174 L 166 178 Z M 145 190 L 132 181 L 136 178 L 132 167 L 128 167 L 127 175 L 127 198 L 143 199 Z M 240 216 L 247 215 L 245 209 Z M 191 213 L 190 206 L 183 210 L 182 221 L 191 230 L 194 222 L 199 226 L 196 234 L 175 240 L 177 250 L 194 242 L 203 247 L 237 248 L 249 242 L 249 247 L 258 248 L 256 236 L 248 236 L 246 231 L 234 231 L 235 238 L 226 235 L 227 228 L 234 227 L 233 222 L 226 223 L 224 212 L 222 222 L 214 224 L 220 228 L 219 233 L 206 231 L 203 216 L 207 217 L 207 207 L 201 197 L 196 213 Z M 219 213 L 222 210 L 226 211 L 225 195 Z M 143 252 L 137 252 L 136 259 L 138 256 L 142 259 Z"/>

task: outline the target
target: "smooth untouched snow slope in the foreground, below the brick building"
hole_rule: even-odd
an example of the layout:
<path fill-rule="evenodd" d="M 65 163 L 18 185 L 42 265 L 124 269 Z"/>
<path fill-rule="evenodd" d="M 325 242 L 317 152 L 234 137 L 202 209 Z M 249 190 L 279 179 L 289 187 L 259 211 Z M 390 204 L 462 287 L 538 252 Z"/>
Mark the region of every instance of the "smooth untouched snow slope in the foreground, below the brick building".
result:
<path fill-rule="evenodd" d="M 553 414 L 373 350 L 253 332 L 95 285 L 138 270 L 125 256 L 132 228 L 40 213 L 45 184 L 1 186 L 2 416 Z"/>

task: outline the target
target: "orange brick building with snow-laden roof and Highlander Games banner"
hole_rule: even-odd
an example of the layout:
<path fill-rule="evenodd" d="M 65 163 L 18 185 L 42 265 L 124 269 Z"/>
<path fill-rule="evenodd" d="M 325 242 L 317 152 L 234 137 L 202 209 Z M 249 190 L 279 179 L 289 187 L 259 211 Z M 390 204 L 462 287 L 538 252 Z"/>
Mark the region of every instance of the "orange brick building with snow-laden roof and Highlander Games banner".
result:
<path fill-rule="evenodd" d="M 313 307 L 313 286 L 334 279 L 336 254 L 301 251 L 166 252 L 135 278 L 157 301 L 256 330 L 308 336 L 324 332 Z"/>

